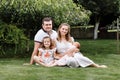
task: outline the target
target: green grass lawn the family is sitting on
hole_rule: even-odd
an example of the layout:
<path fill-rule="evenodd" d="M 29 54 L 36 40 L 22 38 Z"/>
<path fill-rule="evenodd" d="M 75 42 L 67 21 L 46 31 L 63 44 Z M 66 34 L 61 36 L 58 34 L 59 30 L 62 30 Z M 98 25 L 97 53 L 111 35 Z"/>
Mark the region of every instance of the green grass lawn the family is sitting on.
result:
<path fill-rule="evenodd" d="M 81 52 L 101 68 L 68 68 L 23 66 L 29 58 L 0 59 L 0 80 L 119 80 L 120 54 L 116 53 L 116 40 L 79 40 Z"/>

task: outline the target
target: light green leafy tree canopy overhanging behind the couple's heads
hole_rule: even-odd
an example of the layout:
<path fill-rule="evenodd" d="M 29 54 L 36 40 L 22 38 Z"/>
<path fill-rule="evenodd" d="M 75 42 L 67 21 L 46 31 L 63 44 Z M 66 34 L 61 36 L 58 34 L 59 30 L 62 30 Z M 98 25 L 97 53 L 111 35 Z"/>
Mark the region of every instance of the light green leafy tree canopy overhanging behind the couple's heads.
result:
<path fill-rule="evenodd" d="M 0 18 L 29 30 L 38 30 L 41 19 L 51 16 L 57 27 L 61 22 L 85 25 L 91 12 L 77 7 L 72 0 L 2 0 Z"/>

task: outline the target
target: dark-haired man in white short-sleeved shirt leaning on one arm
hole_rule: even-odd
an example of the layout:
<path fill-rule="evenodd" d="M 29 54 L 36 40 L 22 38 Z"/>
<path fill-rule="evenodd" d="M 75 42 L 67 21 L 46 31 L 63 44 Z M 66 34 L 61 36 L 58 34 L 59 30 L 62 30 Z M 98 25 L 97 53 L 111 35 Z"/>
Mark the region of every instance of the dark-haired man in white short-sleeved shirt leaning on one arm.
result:
<path fill-rule="evenodd" d="M 37 55 L 38 48 L 41 47 L 42 39 L 45 36 L 50 36 L 53 40 L 57 37 L 57 32 L 52 30 L 52 27 L 53 21 L 51 18 L 46 17 L 42 20 L 42 29 L 40 29 L 34 37 L 34 50 L 31 55 L 30 64 L 34 63 L 33 57 Z"/>

